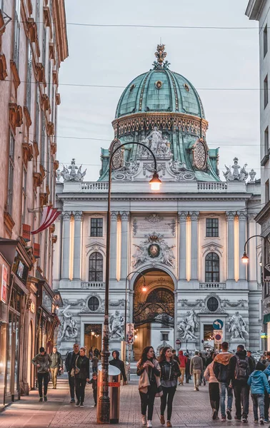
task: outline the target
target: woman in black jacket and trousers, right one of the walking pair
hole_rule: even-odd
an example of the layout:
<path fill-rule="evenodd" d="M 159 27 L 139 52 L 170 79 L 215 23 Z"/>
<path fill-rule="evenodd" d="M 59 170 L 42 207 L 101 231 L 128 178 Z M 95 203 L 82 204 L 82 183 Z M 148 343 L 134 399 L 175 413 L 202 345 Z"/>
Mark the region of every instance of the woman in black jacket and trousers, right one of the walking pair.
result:
<path fill-rule="evenodd" d="M 179 364 L 174 360 L 169 346 L 163 348 L 161 356 L 159 357 L 159 365 L 161 370 L 161 387 L 163 391 L 160 406 L 160 422 L 161 425 L 165 424 L 164 412 L 167 407 L 166 426 L 171 427 L 172 404 L 176 392 L 177 378 L 180 376 L 181 372 Z"/>

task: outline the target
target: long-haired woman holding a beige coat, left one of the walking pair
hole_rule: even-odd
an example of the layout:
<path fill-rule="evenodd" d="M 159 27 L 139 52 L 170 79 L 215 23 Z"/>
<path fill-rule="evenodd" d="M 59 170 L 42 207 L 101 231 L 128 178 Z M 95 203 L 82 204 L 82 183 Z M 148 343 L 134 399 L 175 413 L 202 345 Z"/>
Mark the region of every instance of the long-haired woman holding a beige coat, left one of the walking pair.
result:
<path fill-rule="evenodd" d="M 154 348 L 146 346 L 137 362 L 139 379 L 139 394 L 141 397 L 142 424 L 152 427 L 152 417 L 155 397 L 161 397 L 160 366 L 154 354 Z M 147 412 L 147 420 L 146 420 Z"/>

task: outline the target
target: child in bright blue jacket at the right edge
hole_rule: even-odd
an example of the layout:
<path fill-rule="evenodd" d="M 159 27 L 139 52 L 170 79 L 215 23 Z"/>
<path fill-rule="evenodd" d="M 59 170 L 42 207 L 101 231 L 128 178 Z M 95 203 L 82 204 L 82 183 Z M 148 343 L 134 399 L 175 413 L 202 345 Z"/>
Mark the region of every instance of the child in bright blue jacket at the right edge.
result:
<path fill-rule="evenodd" d="M 248 379 L 248 384 L 251 387 L 251 399 L 253 401 L 254 422 L 258 422 L 258 407 L 260 412 L 260 424 L 264 424 L 264 392 L 270 394 L 270 387 L 263 372 L 264 365 L 257 362 L 254 372 L 252 372 Z"/>

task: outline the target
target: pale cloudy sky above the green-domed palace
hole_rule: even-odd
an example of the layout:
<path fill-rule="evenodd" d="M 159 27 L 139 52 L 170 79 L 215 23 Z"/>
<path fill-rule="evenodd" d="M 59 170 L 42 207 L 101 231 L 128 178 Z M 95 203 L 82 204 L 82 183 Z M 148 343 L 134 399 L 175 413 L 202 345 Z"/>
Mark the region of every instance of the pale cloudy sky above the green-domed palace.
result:
<path fill-rule="evenodd" d="M 99 178 L 101 147 L 114 137 L 116 104 L 129 82 L 151 68 L 162 39 L 171 70 L 201 96 L 209 121 L 206 140 L 210 148 L 220 147 L 220 169 L 237 156 L 259 178 L 258 23 L 245 16 L 247 3 L 77 0 L 74 7 L 74 0 L 66 0 L 69 58 L 60 73 L 60 163 L 76 158 L 87 168 L 85 180 Z"/>

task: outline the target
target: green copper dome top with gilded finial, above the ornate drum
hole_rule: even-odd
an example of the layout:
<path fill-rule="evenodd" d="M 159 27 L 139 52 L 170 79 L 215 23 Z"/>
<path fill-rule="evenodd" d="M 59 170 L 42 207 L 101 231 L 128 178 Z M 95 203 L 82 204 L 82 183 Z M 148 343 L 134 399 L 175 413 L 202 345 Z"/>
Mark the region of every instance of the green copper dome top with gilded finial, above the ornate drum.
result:
<path fill-rule="evenodd" d="M 159 49 L 160 47 L 160 49 Z M 194 86 L 164 63 L 164 45 L 158 46 L 154 69 L 134 78 L 121 95 L 116 118 L 134 113 L 185 113 L 205 118 L 201 98 Z"/>

